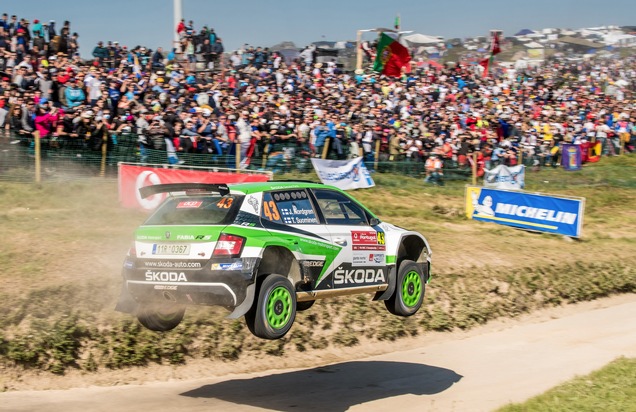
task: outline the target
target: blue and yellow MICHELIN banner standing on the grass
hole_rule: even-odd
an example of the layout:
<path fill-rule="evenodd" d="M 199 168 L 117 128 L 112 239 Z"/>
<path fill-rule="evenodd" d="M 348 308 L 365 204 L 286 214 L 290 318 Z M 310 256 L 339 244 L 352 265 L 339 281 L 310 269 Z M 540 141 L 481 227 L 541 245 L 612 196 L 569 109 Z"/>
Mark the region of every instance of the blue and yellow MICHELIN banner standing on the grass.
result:
<path fill-rule="evenodd" d="M 584 198 L 466 187 L 466 216 L 522 229 L 581 236 Z"/>

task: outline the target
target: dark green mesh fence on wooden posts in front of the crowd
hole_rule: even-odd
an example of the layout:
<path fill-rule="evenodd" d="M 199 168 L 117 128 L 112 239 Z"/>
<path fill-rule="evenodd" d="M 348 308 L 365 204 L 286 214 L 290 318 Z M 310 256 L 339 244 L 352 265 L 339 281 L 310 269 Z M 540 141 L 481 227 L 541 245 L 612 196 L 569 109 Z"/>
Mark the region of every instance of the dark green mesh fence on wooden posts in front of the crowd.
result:
<path fill-rule="evenodd" d="M 93 146 L 95 147 L 95 146 Z M 241 159 L 239 144 L 226 148 L 229 154 L 177 153 L 177 160 L 169 160 L 165 150 L 142 148 L 135 134 L 104 135 L 97 150 L 87 147 L 84 139 L 34 138 L 6 132 L 0 135 L 0 180 L 40 182 L 42 180 L 81 180 L 95 177 L 117 178 L 120 162 L 161 164 L 167 167 L 234 168 L 239 170 L 261 170 L 273 173 L 313 173 L 311 153 L 308 146 L 286 141 L 257 145 L 249 161 Z M 338 154 L 328 145 L 322 158 L 351 158 L 358 153 L 344 148 Z M 372 152 L 364 155 L 371 173 L 394 173 L 411 177 L 425 176 L 422 160 L 389 160 L 388 154 Z M 176 162 L 172 164 L 171 162 Z M 452 161 L 444 166 L 446 180 L 468 180 L 473 171 L 460 168 Z"/>

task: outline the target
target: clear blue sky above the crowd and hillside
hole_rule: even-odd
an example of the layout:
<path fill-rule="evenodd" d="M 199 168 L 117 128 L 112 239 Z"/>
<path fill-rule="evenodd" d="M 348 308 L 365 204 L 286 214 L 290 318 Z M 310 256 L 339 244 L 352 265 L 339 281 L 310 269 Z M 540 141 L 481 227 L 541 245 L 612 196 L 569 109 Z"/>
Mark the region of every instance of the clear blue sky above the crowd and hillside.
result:
<path fill-rule="evenodd" d="M 226 51 L 247 43 L 273 46 L 293 41 L 355 40 L 356 31 L 392 28 L 453 37 L 486 36 L 492 29 L 514 35 L 523 28 L 636 25 L 635 0 L 182 0 L 183 17 L 223 38 Z M 71 22 L 80 52 L 88 58 L 97 42 L 134 47 L 172 44 L 173 0 L 21 0 L 0 2 L 0 12 L 29 21 Z M 372 39 L 371 33 L 365 39 Z"/>

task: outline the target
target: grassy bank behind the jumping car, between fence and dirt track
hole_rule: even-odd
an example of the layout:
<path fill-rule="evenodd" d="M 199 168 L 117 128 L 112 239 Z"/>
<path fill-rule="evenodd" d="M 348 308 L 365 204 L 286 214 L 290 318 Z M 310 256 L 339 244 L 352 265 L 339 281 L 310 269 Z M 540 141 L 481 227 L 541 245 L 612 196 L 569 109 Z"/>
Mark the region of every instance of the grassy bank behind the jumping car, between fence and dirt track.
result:
<path fill-rule="evenodd" d="M 368 296 L 319 301 L 291 333 L 265 345 L 218 308 L 188 309 L 175 332 L 154 333 L 114 312 L 121 265 L 145 213 L 122 209 L 113 181 L 0 183 L 0 367 L 63 373 L 283 356 L 427 331 L 467 329 L 498 317 L 636 292 L 636 157 L 603 159 L 581 172 L 528 173 L 532 192 L 583 196 L 584 236 L 566 241 L 468 220 L 464 185 L 432 187 L 375 173 L 353 195 L 382 220 L 418 230 L 433 250 L 433 281 L 422 310 L 388 314 Z M 281 178 L 312 178 L 292 175 Z M 73 323 L 69 324 L 68 319 Z M 0 378 L 0 385 L 2 379 Z"/>

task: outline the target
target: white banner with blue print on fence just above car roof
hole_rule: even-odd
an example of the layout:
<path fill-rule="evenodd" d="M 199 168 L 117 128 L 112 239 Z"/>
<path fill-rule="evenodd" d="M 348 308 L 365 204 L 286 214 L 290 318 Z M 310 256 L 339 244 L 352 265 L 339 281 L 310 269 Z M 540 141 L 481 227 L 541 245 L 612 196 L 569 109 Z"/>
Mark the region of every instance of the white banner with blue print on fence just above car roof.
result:
<path fill-rule="evenodd" d="M 337 188 L 364 189 L 375 186 L 361 157 L 351 160 L 311 159 L 320 181 Z"/>

